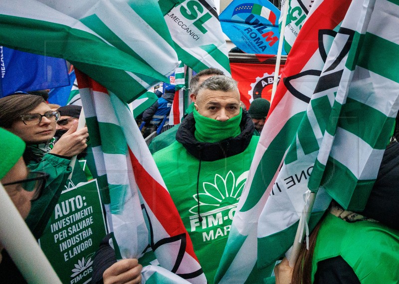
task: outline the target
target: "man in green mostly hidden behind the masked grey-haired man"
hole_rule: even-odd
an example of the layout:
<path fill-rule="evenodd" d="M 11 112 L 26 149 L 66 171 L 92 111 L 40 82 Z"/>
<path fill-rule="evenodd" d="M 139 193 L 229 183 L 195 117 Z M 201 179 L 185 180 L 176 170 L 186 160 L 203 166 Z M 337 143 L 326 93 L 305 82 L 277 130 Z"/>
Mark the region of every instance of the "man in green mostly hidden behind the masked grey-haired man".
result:
<path fill-rule="evenodd" d="M 208 79 L 209 77 L 215 76 L 215 75 L 224 75 L 223 71 L 217 69 L 217 68 L 208 68 L 204 69 L 200 72 L 198 72 L 193 78 L 190 80 L 190 99 L 192 101 L 195 100 L 197 97 L 198 93 L 198 88 L 202 84 L 203 81 Z M 194 111 L 194 103 L 190 104 L 190 106 L 187 108 L 185 112 L 185 116 L 191 114 Z M 159 151 L 173 142 L 176 141 L 176 133 L 178 131 L 180 124 L 175 125 L 171 129 L 161 133 L 157 137 L 155 137 L 151 143 L 148 145 L 150 152 L 154 154 L 156 151 Z"/>

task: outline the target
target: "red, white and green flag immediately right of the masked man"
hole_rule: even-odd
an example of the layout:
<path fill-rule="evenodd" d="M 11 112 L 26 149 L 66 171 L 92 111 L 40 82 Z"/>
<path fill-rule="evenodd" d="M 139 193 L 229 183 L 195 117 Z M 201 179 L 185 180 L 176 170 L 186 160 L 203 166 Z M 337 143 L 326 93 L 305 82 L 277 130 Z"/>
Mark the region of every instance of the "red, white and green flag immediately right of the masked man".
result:
<path fill-rule="evenodd" d="M 289 183 L 291 174 L 285 177 L 288 179 L 284 183 L 277 185 L 275 181 L 281 167 L 284 167 L 284 158 L 288 148 L 292 142 L 297 141 L 298 127 L 325 65 L 326 54 L 337 33 L 334 29 L 344 18 L 349 6 L 349 3 L 344 0 L 338 2 L 336 0 L 318 0 L 316 2 L 317 4 L 314 3 L 310 16 L 287 57 L 280 84 L 277 87 L 245 188 L 238 203 L 229 239 L 216 274 L 216 282 L 228 283 L 235 279 L 244 283 L 245 281 L 250 282 L 257 274 L 262 277 L 258 272 L 259 216 L 265 204 L 273 199 L 276 200 L 275 197 L 288 198 L 279 204 L 291 203 L 286 194 L 276 195 L 280 192 L 278 186 L 288 187 L 293 184 L 293 182 Z M 323 35 L 323 40 L 319 41 L 321 35 Z M 329 77 L 325 79 L 327 78 Z M 326 88 L 330 88 L 329 85 L 326 84 Z M 299 136 L 306 137 L 306 134 Z M 311 170 L 312 168 L 309 171 L 308 168 L 305 168 L 302 173 L 301 168 L 300 171 L 293 172 L 293 181 L 298 183 L 296 180 L 298 178 L 302 184 L 306 183 Z M 301 199 L 303 200 L 302 195 Z M 278 206 L 275 208 L 278 209 Z M 277 215 L 278 213 L 274 216 Z M 278 229 L 275 229 L 277 232 L 281 227 L 286 228 L 283 217 L 279 216 L 273 220 L 278 224 Z M 284 240 L 282 242 L 282 245 L 272 245 L 272 248 L 276 250 L 274 256 L 270 253 L 272 260 L 278 259 L 292 245 L 292 243 L 291 245 L 285 243 Z M 263 278 L 268 276 L 263 275 Z"/>

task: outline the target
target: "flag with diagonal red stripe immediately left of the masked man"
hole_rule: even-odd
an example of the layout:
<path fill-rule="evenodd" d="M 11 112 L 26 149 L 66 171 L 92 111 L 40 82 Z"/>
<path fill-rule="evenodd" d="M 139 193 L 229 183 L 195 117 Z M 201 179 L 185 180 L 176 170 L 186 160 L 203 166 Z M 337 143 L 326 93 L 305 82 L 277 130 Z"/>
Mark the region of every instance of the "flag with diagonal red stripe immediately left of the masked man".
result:
<path fill-rule="evenodd" d="M 117 259 L 139 258 L 149 283 L 206 283 L 193 244 L 128 106 L 76 70 Z M 140 258 L 142 257 L 142 258 Z M 156 264 L 159 264 L 157 266 Z"/>

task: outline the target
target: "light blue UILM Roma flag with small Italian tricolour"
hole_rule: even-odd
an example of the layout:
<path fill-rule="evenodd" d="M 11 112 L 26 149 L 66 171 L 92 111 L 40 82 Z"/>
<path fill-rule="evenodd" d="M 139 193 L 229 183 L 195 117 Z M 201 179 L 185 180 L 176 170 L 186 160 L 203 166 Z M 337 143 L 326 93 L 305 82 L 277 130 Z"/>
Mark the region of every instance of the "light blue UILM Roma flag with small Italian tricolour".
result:
<path fill-rule="evenodd" d="M 277 54 L 280 10 L 268 0 L 242 2 L 232 1 L 219 15 L 222 31 L 246 53 Z"/>

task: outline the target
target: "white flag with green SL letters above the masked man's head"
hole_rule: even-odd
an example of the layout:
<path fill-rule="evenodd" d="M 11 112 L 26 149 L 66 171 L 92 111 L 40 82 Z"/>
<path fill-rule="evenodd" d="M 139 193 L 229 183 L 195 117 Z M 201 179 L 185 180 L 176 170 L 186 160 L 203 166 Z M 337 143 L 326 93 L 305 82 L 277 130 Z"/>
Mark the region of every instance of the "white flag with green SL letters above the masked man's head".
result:
<path fill-rule="evenodd" d="M 165 21 L 179 60 L 196 72 L 214 67 L 230 74 L 227 45 L 213 0 L 183 1 L 165 14 Z"/>

